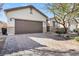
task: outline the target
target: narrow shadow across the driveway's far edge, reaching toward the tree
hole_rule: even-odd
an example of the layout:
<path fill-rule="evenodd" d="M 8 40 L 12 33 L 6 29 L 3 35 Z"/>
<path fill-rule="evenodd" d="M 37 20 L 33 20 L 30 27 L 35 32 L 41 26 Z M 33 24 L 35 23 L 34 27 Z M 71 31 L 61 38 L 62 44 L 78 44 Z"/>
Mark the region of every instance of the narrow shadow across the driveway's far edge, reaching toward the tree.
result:
<path fill-rule="evenodd" d="M 48 39 L 52 39 L 52 40 L 57 40 L 57 41 L 66 41 L 66 40 L 70 40 L 67 39 L 59 34 L 54 34 L 54 33 L 38 33 L 38 34 L 27 34 L 27 36 L 30 37 L 36 37 L 36 38 L 48 38 Z"/>

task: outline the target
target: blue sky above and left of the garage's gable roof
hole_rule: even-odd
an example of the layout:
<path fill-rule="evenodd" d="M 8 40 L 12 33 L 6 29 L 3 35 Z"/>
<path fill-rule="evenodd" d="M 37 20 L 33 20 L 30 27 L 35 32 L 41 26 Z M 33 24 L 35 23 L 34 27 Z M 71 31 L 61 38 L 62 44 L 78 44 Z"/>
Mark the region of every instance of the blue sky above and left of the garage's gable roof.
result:
<path fill-rule="evenodd" d="M 27 5 L 33 5 L 34 7 L 36 7 L 40 11 L 42 11 L 48 17 L 53 16 L 53 14 L 48 12 L 45 4 L 43 4 L 43 3 L 5 3 L 3 5 L 3 9 L 9 9 L 9 8 L 21 7 L 21 6 L 27 6 Z M 6 18 L 6 15 L 4 14 L 3 10 L 0 12 L 0 21 L 7 22 L 7 18 Z"/>

